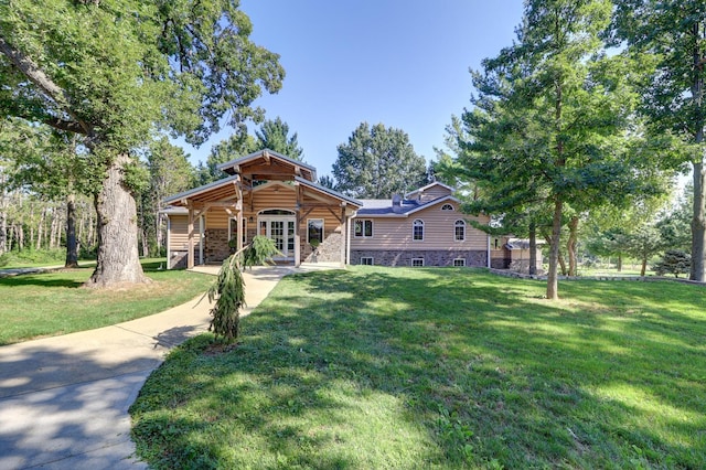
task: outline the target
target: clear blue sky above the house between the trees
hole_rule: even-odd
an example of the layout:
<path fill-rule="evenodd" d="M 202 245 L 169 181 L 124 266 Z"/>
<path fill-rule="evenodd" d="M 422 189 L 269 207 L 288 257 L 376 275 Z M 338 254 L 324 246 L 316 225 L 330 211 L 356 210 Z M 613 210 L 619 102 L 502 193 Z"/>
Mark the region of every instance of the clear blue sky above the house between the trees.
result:
<path fill-rule="evenodd" d="M 435 158 L 451 115 L 469 106 L 469 67 L 515 38 L 522 0 L 242 0 L 250 39 L 280 54 L 282 89 L 256 102 L 298 133 L 303 158 L 329 174 L 336 147 L 362 122 L 409 135 Z M 250 133 L 255 125 L 248 124 Z M 195 149 L 205 161 L 214 136 Z"/>

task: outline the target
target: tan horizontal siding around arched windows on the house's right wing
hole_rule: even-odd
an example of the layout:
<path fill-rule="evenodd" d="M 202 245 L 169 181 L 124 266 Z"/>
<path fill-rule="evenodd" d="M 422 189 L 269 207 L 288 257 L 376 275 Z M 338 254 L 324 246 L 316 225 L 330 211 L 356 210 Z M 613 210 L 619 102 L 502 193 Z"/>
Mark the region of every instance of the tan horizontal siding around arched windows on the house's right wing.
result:
<path fill-rule="evenodd" d="M 456 204 L 454 204 L 456 205 Z M 356 217 L 365 218 L 365 217 Z M 424 242 L 411 239 L 411 227 L 416 220 L 424 221 Z M 466 241 L 454 239 L 454 223 L 458 220 L 477 220 L 457 211 L 441 211 L 441 204 L 410 214 L 408 217 L 372 218 L 373 237 L 356 238 L 351 234 L 352 249 L 488 249 L 488 235 L 466 224 Z M 353 225 L 353 224 L 351 224 Z M 351 229 L 354 229 L 353 227 Z"/>

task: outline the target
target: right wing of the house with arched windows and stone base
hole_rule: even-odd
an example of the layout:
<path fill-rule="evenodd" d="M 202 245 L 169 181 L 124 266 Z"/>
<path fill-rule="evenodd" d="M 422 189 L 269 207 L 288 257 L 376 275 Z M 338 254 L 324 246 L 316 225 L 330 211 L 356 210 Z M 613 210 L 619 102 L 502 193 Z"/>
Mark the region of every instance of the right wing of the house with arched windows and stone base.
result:
<path fill-rule="evenodd" d="M 392 200 L 363 200 L 351 224 L 352 265 L 490 267 L 488 235 L 460 212 L 453 189 L 435 182 Z"/>

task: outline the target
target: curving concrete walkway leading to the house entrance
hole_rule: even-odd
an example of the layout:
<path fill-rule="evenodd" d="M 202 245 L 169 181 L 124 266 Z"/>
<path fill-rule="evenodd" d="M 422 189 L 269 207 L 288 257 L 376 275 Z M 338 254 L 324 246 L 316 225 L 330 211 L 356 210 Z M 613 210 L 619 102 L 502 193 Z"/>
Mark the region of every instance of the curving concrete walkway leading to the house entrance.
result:
<path fill-rule="evenodd" d="M 284 276 L 306 270 L 245 273 L 244 314 Z M 128 408 L 171 348 L 207 330 L 210 306 L 199 299 L 113 327 L 1 346 L 0 469 L 147 468 L 133 457 Z"/>

